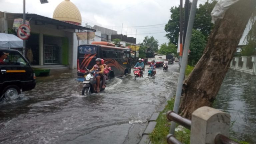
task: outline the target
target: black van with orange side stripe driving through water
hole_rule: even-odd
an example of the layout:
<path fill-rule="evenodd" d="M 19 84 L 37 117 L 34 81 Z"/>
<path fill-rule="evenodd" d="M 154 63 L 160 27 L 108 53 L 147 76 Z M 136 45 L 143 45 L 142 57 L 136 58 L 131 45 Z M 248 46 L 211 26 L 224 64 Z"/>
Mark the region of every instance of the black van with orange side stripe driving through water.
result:
<path fill-rule="evenodd" d="M 36 86 L 29 62 L 17 50 L 0 48 L 0 99 L 15 96 Z"/>

